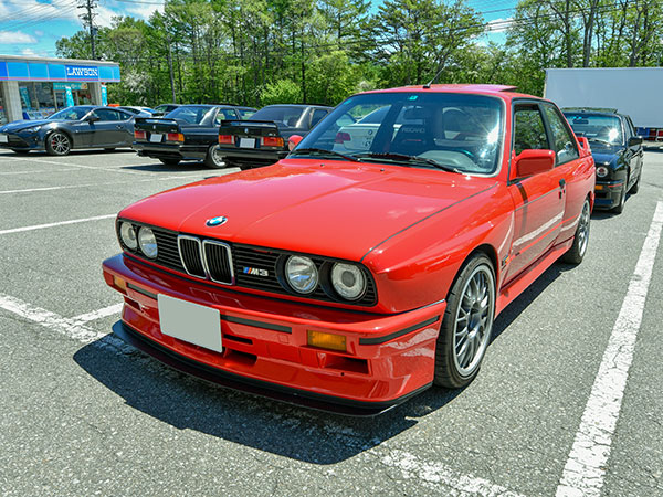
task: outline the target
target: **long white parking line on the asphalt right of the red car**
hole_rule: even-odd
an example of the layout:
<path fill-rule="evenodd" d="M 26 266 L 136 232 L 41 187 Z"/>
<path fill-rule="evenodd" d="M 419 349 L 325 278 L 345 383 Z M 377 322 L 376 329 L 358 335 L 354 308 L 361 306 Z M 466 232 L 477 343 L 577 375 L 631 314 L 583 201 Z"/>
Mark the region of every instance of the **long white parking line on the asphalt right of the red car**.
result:
<path fill-rule="evenodd" d="M 601 494 L 606 463 L 610 456 L 612 435 L 619 420 L 629 369 L 633 362 L 635 339 L 642 324 L 662 228 L 663 201 L 656 204 L 627 296 L 603 353 L 580 427 L 557 487 L 558 497 Z"/>

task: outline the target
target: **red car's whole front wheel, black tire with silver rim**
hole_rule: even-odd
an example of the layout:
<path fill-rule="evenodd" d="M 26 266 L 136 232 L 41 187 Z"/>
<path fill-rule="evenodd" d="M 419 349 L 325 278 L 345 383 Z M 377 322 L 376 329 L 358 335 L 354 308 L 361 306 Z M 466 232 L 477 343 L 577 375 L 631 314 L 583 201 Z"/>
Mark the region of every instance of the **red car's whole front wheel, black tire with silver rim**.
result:
<path fill-rule="evenodd" d="M 477 254 L 463 265 L 449 292 L 435 348 L 435 384 L 459 389 L 474 380 L 491 341 L 495 297 L 493 263 Z"/>

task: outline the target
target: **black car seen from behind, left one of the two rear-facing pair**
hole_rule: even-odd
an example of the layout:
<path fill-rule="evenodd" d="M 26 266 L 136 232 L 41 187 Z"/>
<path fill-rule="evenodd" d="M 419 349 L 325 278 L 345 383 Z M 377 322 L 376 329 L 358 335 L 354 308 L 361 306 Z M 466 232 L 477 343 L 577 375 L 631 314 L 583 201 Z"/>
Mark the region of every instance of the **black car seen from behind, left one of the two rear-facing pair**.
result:
<path fill-rule="evenodd" d="M 175 166 L 182 160 L 203 160 L 211 168 L 223 168 L 219 154 L 219 124 L 241 119 L 251 107 L 229 105 L 180 105 L 165 117 L 137 117 L 134 150 Z"/>

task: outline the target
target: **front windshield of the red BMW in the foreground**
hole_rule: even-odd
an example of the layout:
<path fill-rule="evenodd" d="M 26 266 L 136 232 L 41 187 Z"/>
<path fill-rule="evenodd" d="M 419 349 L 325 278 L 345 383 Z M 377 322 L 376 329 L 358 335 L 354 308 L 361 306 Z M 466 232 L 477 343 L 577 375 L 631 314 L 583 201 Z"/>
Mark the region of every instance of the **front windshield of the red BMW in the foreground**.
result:
<path fill-rule="evenodd" d="M 347 116 L 356 121 L 348 124 Z M 498 98 L 454 93 L 356 95 L 323 119 L 292 152 L 329 151 L 361 161 L 493 175 L 499 167 L 504 110 Z M 307 151 L 309 150 L 309 151 Z"/>

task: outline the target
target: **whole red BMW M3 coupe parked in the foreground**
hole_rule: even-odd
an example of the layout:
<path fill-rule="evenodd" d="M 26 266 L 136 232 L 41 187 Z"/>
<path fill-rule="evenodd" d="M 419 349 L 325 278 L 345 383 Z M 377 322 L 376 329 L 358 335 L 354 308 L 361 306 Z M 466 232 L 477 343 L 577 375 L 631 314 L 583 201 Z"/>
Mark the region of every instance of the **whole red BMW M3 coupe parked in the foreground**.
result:
<path fill-rule="evenodd" d="M 233 388 L 375 414 L 476 376 L 495 317 L 586 254 L 594 163 L 550 102 L 487 85 L 349 97 L 274 166 L 124 209 L 125 340 Z"/>

